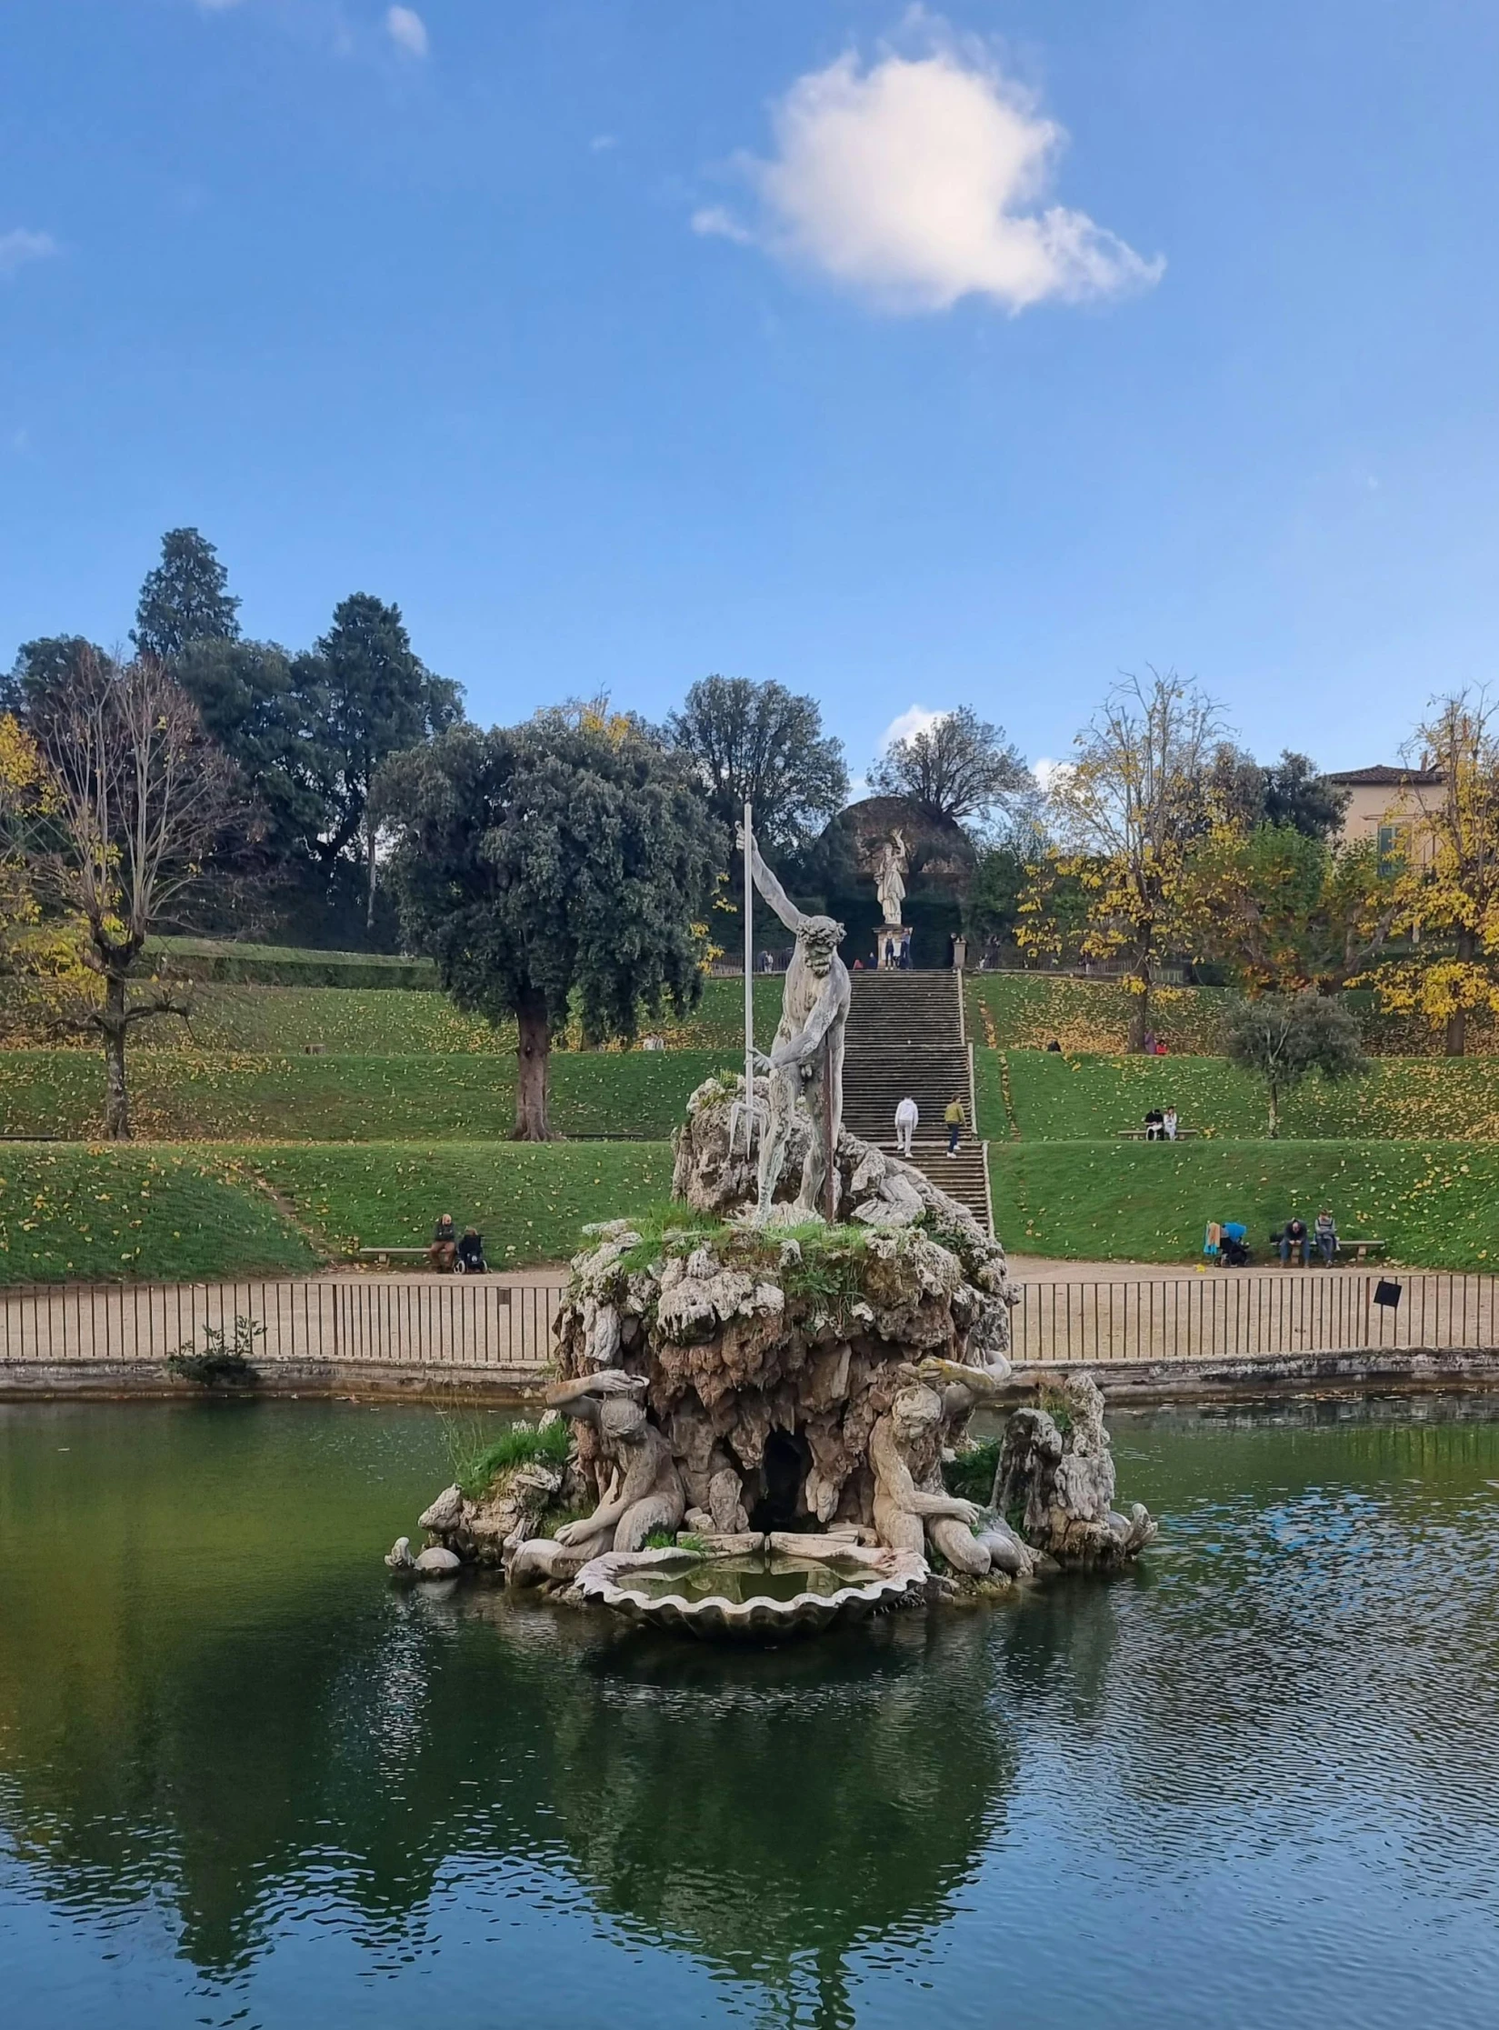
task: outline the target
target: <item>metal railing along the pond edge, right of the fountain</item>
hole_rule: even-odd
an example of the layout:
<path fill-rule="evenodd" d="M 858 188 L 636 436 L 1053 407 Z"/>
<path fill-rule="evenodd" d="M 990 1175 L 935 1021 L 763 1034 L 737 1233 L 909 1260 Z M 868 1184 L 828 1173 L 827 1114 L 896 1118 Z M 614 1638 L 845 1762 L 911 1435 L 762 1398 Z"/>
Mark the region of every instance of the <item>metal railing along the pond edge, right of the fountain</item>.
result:
<path fill-rule="evenodd" d="M 1399 1303 L 1375 1303 L 1379 1285 Z M 1499 1350 L 1499 1277 L 1231 1271 L 1142 1283 L 1026 1283 L 1020 1364 L 1267 1360 L 1365 1350 Z"/>

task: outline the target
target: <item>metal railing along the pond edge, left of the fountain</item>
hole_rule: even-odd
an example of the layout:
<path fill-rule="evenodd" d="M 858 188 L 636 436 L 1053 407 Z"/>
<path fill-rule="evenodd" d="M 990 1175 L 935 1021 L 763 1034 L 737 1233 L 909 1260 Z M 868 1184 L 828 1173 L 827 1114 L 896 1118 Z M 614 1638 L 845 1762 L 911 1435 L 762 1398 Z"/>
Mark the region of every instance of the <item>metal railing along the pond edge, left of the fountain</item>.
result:
<path fill-rule="evenodd" d="M 22 1362 L 160 1362 L 179 1348 L 203 1352 L 207 1328 L 234 1340 L 240 1317 L 264 1328 L 256 1366 L 534 1370 L 550 1358 L 561 1301 L 561 1285 L 487 1277 L 22 1289 L 0 1295 L 0 1374 Z"/>

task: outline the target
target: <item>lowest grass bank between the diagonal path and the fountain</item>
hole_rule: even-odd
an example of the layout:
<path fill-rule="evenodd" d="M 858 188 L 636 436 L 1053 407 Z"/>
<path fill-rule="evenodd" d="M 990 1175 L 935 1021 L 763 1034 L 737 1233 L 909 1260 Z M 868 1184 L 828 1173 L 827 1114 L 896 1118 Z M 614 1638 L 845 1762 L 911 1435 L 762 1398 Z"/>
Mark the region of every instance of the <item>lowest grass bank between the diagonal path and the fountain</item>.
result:
<path fill-rule="evenodd" d="M 561 1261 L 583 1224 L 644 1210 L 672 1181 L 666 1143 L 286 1145 L 242 1159 L 335 1250 L 416 1246 L 451 1212 L 479 1228 L 494 1269 Z"/>

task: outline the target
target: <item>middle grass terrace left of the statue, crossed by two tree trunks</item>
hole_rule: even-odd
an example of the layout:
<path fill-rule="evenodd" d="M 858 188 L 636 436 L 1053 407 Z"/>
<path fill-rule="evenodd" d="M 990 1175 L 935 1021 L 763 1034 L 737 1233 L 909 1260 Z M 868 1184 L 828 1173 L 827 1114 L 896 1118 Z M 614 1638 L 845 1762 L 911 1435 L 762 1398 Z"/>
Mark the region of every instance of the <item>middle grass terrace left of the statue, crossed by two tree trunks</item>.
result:
<path fill-rule="evenodd" d="M 339 997 L 353 999 L 353 997 Z M 398 1001 L 400 995 L 374 999 Z M 550 1121 L 559 1135 L 662 1141 L 727 1052 L 557 1052 Z M 138 1050 L 136 1133 L 152 1141 L 477 1141 L 516 1119 L 514 1058 L 272 1058 Z M 6 1135 L 102 1133 L 104 1060 L 77 1050 L 0 1052 Z"/>

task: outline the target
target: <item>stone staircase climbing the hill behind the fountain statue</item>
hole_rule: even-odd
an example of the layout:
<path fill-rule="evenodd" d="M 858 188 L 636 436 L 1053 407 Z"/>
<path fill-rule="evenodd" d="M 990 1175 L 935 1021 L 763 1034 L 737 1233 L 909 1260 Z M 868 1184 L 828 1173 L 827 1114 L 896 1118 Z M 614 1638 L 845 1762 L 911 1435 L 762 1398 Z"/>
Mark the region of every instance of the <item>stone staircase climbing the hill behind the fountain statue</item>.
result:
<path fill-rule="evenodd" d="M 843 1058 L 843 1125 L 861 1141 L 896 1147 L 896 1104 L 920 1110 L 912 1163 L 989 1228 L 983 1143 L 973 1139 L 973 1086 L 963 1039 L 959 972 L 855 972 Z M 963 1100 L 969 1127 L 947 1153 L 942 1112 Z"/>

